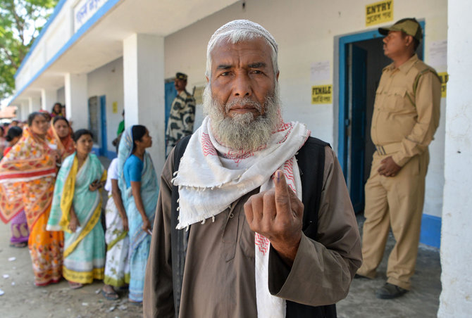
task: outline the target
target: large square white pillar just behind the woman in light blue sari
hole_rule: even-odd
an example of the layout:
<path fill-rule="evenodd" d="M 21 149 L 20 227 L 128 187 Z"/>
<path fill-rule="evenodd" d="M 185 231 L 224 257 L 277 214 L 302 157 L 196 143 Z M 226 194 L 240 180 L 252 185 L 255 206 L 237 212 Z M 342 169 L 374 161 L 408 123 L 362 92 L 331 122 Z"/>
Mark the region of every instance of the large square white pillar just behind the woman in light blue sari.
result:
<path fill-rule="evenodd" d="M 156 172 L 165 158 L 164 127 L 164 39 L 149 34 L 132 34 L 123 41 L 125 125 L 144 125 L 153 145 L 149 153 Z"/>

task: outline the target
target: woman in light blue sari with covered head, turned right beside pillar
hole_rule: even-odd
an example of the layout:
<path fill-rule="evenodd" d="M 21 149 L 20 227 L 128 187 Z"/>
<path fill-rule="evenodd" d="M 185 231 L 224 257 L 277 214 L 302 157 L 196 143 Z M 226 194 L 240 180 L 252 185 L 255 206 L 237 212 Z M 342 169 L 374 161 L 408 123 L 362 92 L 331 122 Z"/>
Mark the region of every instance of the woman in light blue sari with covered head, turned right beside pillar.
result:
<path fill-rule="evenodd" d="M 130 236 L 130 301 L 142 302 L 144 273 L 152 224 L 156 213 L 159 185 L 151 156 L 152 145 L 146 127 L 135 125 L 125 130 L 118 148 L 118 186 L 128 215 Z"/>

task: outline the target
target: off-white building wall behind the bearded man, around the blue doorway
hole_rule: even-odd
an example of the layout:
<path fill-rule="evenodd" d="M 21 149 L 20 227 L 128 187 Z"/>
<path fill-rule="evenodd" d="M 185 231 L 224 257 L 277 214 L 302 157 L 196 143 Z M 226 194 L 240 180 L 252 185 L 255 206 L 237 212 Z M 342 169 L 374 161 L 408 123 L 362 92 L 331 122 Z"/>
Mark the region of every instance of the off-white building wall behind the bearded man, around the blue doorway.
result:
<path fill-rule="evenodd" d="M 238 2 L 190 27 L 166 37 L 166 78 L 181 71 L 189 75 L 187 89 L 204 83 L 206 45 L 211 34 L 224 23 L 235 19 L 249 19 L 263 25 L 273 34 L 279 45 L 280 92 L 282 113 L 285 120 L 306 123 L 311 135 L 328 141 L 337 151 L 337 104 L 312 105 L 311 86 L 317 84 L 338 85 L 338 75 L 333 71 L 338 53 L 335 37 L 356 32 L 375 30 L 378 26 L 365 26 L 368 1 L 245 1 L 245 8 Z M 425 61 L 429 60 L 432 42 L 447 39 L 447 0 L 394 1 L 394 21 L 416 17 L 426 21 Z M 387 23 L 391 24 L 391 23 Z M 312 63 L 329 61 L 331 78 L 326 82 L 310 79 Z M 445 71 L 446 65 L 437 68 Z M 333 100 L 335 96 L 333 96 Z M 442 101 L 444 114 L 445 101 Z M 201 107 L 197 107 L 197 117 Z M 440 216 L 442 205 L 444 116 L 430 146 L 431 160 L 426 184 L 424 212 Z"/>

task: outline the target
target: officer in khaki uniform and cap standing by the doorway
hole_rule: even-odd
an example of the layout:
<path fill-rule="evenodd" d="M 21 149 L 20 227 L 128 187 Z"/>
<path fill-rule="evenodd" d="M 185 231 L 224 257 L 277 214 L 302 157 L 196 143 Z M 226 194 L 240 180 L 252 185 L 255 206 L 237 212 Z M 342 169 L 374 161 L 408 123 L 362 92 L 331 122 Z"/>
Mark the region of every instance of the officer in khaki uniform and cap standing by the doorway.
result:
<path fill-rule="evenodd" d="M 414 18 L 379 28 L 385 56 L 375 96 L 371 137 L 371 175 L 366 183 L 362 257 L 357 277 L 375 277 L 390 227 L 395 247 L 387 266 L 387 282 L 378 298 L 395 298 L 411 288 L 423 214 L 428 145 L 439 124 L 441 84 L 435 70 L 416 56 L 422 38 Z"/>

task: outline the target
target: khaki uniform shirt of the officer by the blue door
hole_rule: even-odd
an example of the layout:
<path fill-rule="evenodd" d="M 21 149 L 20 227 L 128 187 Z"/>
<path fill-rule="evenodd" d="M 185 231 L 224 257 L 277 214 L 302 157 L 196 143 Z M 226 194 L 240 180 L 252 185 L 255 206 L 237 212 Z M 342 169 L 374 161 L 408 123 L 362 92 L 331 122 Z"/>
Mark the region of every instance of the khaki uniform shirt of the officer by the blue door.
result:
<path fill-rule="evenodd" d="M 393 63 L 388 65 L 383 69 L 375 96 L 373 144 L 394 144 L 392 159 L 399 166 L 423 153 L 439 125 L 440 100 L 439 77 L 416 54 L 399 68 Z"/>

